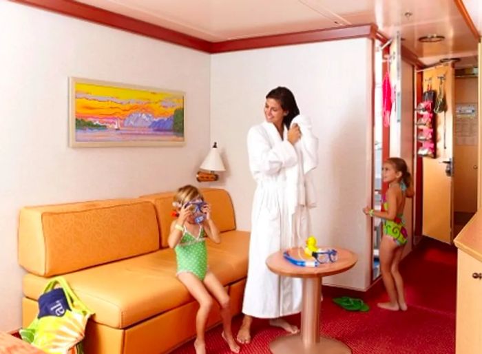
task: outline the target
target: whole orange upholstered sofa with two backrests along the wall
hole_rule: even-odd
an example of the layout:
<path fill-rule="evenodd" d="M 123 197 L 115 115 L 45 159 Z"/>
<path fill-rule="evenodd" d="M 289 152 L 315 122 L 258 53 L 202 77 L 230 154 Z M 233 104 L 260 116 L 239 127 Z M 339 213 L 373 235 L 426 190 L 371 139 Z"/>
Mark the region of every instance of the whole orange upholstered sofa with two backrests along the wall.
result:
<path fill-rule="evenodd" d="M 211 203 L 221 243 L 207 242 L 209 268 L 240 313 L 247 275 L 249 233 L 238 231 L 231 198 L 202 189 Z M 176 278 L 167 247 L 173 193 L 66 205 L 25 207 L 19 217 L 23 326 L 54 275 L 63 275 L 94 316 L 87 324 L 87 354 L 167 353 L 195 333 L 198 304 Z M 220 322 L 213 309 L 208 326 Z"/>

